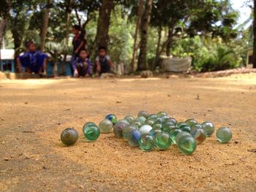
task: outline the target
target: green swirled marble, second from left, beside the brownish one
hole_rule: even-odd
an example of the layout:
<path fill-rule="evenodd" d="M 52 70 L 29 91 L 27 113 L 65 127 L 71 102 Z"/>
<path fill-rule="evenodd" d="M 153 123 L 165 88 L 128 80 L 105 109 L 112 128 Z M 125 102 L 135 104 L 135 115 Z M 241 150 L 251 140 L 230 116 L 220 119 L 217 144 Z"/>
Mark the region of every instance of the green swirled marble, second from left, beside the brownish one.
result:
<path fill-rule="evenodd" d="M 94 123 L 86 123 L 83 126 L 83 135 L 89 141 L 96 141 L 100 135 L 99 127 Z"/>

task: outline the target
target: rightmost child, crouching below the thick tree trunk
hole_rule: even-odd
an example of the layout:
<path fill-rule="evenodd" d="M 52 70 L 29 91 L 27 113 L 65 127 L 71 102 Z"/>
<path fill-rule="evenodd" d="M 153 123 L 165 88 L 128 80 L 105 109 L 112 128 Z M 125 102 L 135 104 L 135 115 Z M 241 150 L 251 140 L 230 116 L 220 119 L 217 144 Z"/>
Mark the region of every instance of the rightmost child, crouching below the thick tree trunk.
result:
<path fill-rule="evenodd" d="M 96 70 L 99 74 L 110 73 L 113 63 L 107 55 L 106 47 L 99 47 L 99 55 L 96 58 Z"/>

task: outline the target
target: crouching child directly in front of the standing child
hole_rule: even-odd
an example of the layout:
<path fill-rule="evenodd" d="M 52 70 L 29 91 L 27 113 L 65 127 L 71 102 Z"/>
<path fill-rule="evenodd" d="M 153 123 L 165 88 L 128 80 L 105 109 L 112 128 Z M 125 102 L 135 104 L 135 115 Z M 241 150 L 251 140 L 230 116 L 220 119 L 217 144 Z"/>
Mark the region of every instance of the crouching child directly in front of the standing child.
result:
<path fill-rule="evenodd" d="M 91 61 L 86 49 L 80 50 L 79 57 L 72 62 L 74 77 L 89 77 L 91 74 Z"/>

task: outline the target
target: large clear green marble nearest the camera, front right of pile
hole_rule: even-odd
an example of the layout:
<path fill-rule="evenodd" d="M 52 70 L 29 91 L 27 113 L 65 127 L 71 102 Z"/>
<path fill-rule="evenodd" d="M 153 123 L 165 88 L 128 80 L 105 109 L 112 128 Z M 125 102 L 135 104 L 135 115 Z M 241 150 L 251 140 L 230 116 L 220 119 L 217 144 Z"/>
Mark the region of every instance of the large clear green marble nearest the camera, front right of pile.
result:
<path fill-rule="evenodd" d="M 183 137 L 178 139 L 178 149 L 181 151 L 181 153 L 184 153 L 186 155 L 192 155 L 192 153 L 195 152 L 196 148 L 197 142 L 191 135 L 184 135 Z"/>

